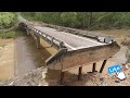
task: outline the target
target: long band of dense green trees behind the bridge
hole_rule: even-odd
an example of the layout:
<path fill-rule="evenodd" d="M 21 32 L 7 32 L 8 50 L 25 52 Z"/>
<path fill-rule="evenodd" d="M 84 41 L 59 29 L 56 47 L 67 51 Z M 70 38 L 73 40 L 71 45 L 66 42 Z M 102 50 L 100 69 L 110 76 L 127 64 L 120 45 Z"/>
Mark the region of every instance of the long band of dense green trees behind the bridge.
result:
<path fill-rule="evenodd" d="M 130 26 L 130 12 L 23 12 L 34 21 L 77 28 L 121 28 Z"/>

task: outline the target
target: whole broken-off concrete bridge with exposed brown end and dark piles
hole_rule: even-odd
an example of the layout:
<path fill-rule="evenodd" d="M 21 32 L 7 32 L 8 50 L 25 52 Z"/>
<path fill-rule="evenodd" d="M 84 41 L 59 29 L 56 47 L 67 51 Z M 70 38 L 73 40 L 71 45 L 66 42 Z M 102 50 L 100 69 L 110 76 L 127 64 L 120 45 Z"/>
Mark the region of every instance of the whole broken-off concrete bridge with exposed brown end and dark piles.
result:
<path fill-rule="evenodd" d="M 40 38 L 42 38 L 57 49 L 57 52 L 48 58 L 46 63 L 48 69 L 62 71 L 61 82 L 64 72 L 74 68 L 79 68 L 78 79 L 80 79 L 83 65 L 92 63 L 92 72 L 95 72 L 96 62 L 101 60 L 103 60 L 100 70 L 100 73 L 102 73 L 106 61 L 120 49 L 113 36 L 101 33 L 51 24 L 36 26 L 28 21 L 20 22 L 20 27 L 24 27 L 27 35 L 35 38 L 37 48 L 39 48 Z"/>

